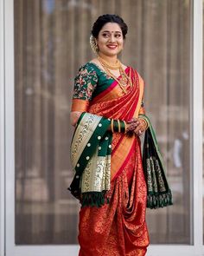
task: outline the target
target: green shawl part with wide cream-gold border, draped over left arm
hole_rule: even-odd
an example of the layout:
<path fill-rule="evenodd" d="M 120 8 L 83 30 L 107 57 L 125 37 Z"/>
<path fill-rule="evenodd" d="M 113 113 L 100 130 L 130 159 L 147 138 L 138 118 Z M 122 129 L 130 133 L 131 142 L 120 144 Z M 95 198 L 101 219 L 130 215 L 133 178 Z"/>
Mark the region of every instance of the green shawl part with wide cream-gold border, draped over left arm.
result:
<path fill-rule="evenodd" d="M 111 120 L 82 113 L 71 143 L 71 162 L 75 175 L 68 187 L 82 207 L 100 207 L 108 203 L 111 187 Z"/>

